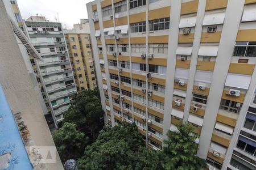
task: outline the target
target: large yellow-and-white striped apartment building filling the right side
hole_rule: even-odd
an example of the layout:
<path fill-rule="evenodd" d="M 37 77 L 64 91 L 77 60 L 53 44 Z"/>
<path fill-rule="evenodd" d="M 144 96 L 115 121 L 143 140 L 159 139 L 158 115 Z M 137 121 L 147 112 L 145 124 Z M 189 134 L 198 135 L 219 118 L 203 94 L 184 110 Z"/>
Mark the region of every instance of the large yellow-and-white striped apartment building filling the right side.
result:
<path fill-rule="evenodd" d="M 188 122 L 209 169 L 256 168 L 256 1 L 96 0 L 87 10 L 105 122 L 135 122 L 155 149 Z"/>

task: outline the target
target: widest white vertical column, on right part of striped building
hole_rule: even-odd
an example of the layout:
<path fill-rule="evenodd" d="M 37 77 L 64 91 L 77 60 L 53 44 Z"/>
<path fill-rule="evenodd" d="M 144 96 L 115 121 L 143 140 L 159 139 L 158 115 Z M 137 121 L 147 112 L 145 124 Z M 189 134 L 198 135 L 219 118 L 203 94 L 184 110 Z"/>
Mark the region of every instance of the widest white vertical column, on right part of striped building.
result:
<path fill-rule="evenodd" d="M 244 1 L 228 1 L 221 40 L 218 46 L 218 54 L 213 72 L 212 84 L 208 96 L 208 105 L 205 109 L 204 123 L 201 130 L 199 151 L 200 158 L 207 158 L 207 152 L 212 138 L 218 108 L 220 107 L 223 87 L 228 74 L 229 63 L 232 58 L 237 30 L 240 25 Z M 235 12 L 234 12 L 235 11 Z"/>

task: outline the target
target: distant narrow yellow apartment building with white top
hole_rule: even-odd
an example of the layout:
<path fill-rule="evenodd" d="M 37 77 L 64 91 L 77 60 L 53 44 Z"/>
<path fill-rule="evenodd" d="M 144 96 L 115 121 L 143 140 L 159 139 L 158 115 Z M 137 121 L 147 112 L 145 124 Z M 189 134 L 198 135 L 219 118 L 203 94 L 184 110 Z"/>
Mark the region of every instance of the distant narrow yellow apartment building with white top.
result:
<path fill-rule="evenodd" d="M 81 23 L 75 24 L 73 29 L 64 29 L 64 35 L 77 91 L 93 90 L 97 87 L 97 80 L 88 20 L 81 19 Z"/>

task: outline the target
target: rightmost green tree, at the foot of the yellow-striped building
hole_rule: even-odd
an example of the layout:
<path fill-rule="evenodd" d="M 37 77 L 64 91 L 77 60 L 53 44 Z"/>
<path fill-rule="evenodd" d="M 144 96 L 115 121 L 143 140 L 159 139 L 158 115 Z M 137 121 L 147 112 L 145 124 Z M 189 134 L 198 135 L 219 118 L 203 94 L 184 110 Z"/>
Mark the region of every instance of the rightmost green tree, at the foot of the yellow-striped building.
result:
<path fill-rule="evenodd" d="M 197 144 L 194 142 L 199 136 L 192 135 L 189 124 L 177 124 L 178 131 L 168 131 L 168 139 L 164 141 L 164 169 L 201 169 L 205 167 L 204 159 L 195 156 Z"/>

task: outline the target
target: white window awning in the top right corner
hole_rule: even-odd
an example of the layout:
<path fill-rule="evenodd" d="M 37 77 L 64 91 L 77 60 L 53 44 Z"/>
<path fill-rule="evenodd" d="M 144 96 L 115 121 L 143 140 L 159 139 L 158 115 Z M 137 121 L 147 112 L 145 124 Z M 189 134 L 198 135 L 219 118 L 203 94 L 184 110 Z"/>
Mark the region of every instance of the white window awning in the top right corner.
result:
<path fill-rule="evenodd" d="M 243 10 L 242 22 L 256 21 L 256 4 L 246 5 Z"/>

